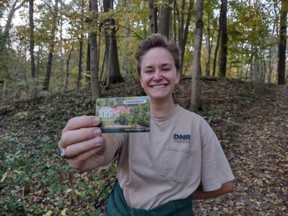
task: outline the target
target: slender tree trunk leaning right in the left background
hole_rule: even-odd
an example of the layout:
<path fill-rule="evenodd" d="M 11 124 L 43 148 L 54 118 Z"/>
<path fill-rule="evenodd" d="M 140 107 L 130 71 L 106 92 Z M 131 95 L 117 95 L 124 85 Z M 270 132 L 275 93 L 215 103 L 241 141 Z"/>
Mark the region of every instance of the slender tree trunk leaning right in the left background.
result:
<path fill-rule="evenodd" d="M 44 84 L 43 84 L 43 91 L 49 91 L 50 76 L 51 76 L 52 62 L 53 62 L 53 53 L 54 53 L 54 47 L 55 47 L 55 35 L 56 35 L 57 21 L 58 21 L 58 2 L 59 0 L 55 0 L 54 11 L 52 14 L 53 17 L 52 17 L 52 24 L 51 24 L 51 33 L 49 37 L 49 54 L 48 54 L 46 75 L 45 75 Z"/>

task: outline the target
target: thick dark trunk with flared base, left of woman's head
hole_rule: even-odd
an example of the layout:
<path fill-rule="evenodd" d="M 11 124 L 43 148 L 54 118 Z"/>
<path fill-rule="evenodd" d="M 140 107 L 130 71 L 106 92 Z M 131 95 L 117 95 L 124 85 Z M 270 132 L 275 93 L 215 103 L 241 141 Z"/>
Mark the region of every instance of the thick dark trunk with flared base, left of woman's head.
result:
<path fill-rule="evenodd" d="M 103 0 L 103 10 L 104 12 L 113 10 L 113 0 Z M 110 84 L 124 82 L 124 79 L 120 74 L 115 19 L 112 16 L 104 21 L 104 28 L 106 44 L 106 88 L 109 88 Z"/>

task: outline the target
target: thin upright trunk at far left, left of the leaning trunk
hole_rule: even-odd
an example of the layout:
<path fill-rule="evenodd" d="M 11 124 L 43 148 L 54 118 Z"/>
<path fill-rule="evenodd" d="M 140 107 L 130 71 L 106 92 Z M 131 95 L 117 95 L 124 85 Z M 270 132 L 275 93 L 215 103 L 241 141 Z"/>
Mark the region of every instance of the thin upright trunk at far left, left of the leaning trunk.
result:
<path fill-rule="evenodd" d="M 35 58 L 34 58 L 34 21 L 33 21 L 33 13 L 34 8 L 33 4 L 34 0 L 29 0 L 29 27 L 30 27 L 30 62 L 31 62 L 31 75 L 32 79 L 36 79 L 36 68 L 35 68 Z M 32 97 L 37 98 L 37 87 L 35 87 L 35 83 L 33 83 L 32 87 Z"/>

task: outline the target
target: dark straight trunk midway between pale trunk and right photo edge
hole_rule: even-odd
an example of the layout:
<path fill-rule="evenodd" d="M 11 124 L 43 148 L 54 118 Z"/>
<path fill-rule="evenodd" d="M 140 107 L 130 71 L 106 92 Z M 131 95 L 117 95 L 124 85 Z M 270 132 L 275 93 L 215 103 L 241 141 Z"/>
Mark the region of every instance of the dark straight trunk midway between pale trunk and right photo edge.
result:
<path fill-rule="evenodd" d="M 220 66 L 219 66 L 219 77 L 226 76 L 227 66 L 227 0 L 222 0 L 222 11 L 221 11 L 221 52 L 220 52 Z"/>

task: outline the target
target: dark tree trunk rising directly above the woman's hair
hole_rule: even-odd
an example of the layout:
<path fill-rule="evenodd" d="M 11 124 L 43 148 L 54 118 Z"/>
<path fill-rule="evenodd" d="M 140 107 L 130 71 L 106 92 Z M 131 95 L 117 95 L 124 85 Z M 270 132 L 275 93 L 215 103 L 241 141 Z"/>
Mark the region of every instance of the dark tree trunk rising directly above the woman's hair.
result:
<path fill-rule="evenodd" d="M 171 35 L 171 8 L 172 0 L 164 0 L 163 7 L 161 8 L 161 16 L 160 16 L 160 29 L 159 33 L 163 34 L 170 41 Z"/>

